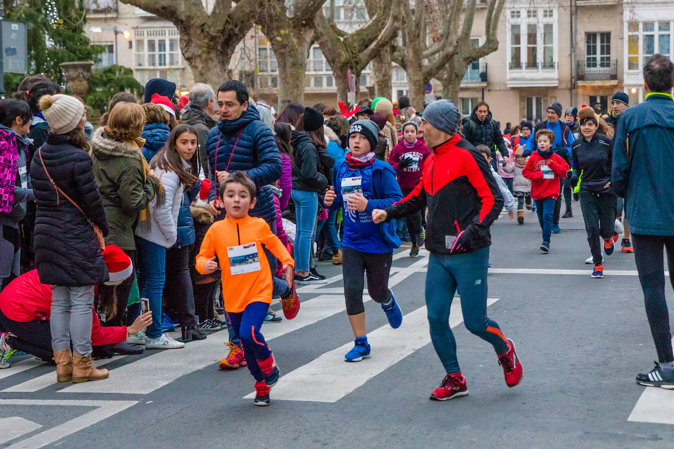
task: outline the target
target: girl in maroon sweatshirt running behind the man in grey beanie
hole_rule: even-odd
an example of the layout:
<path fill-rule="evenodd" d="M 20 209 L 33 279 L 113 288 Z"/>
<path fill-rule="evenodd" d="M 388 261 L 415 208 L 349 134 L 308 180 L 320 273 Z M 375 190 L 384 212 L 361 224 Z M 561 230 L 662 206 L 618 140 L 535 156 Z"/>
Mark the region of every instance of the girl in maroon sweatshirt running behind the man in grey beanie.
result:
<path fill-rule="evenodd" d="M 388 158 L 389 164 L 398 174 L 398 184 L 402 191 L 402 196 L 406 197 L 413 188 L 419 184 L 421 174 L 423 173 L 423 162 L 431 156 L 431 150 L 417 139 L 419 127 L 415 122 L 406 122 L 402 125 L 402 140 L 398 142 Z M 410 233 L 412 249 L 410 257 L 419 256 L 419 246 L 417 239 L 422 233 L 421 230 L 421 211 L 412 213 L 405 217 L 407 221 L 407 231 Z"/>

